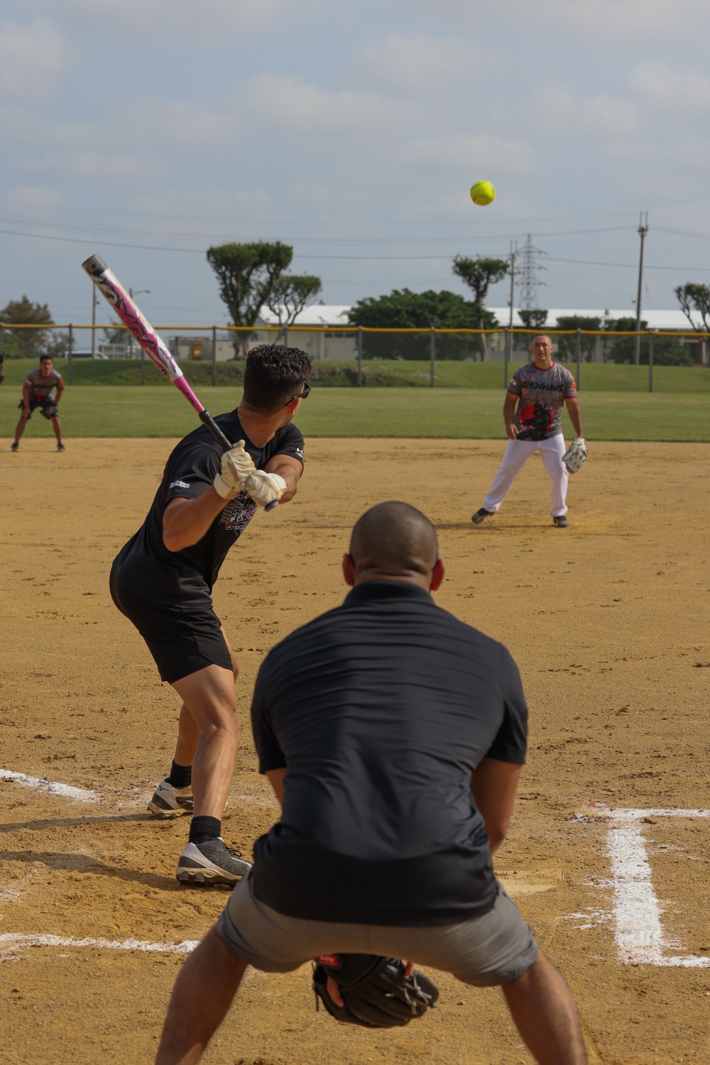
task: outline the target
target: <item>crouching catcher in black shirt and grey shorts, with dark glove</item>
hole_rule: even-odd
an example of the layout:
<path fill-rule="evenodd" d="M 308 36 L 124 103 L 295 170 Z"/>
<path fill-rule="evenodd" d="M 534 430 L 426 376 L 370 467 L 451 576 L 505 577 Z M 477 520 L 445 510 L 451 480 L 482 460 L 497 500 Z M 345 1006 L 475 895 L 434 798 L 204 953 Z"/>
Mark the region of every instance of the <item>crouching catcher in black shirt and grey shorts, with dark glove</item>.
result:
<path fill-rule="evenodd" d="M 339 1020 L 425 1015 L 436 989 L 416 961 L 501 985 L 538 1062 L 583 1065 L 569 989 L 492 868 L 525 760 L 515 663 L 435 605 L 436 534 L 406 503 L 363 514 L 343 573 L 343 605 L 259 672 L 251 723 L 281 819 L 183 966 L 156 1063 L 199 1060 L 248 965 L 318 958 L 316 994 Z"/>

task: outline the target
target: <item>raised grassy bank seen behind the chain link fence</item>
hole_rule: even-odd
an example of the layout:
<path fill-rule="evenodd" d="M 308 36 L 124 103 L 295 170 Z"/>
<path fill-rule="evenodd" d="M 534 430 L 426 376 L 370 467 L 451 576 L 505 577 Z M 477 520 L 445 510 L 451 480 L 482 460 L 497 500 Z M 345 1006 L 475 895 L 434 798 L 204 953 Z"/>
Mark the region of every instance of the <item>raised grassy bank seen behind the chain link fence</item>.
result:
<path fill-rule="evenodd" d="M 11 360 L 5 362 L 5 386 L 19 389 L 34 362 Z M 68 380 L 66 360 L 56 359 L 56 370 Z M 516 370 L 521 362 L 512 362 L 509 372 Z M 212 365 L 209 362 L 183 362 L 182 370 L 187 380 L 196 389 L 212 383 Z M 237 386 L 242 381 L 244 363 L 217 363 L 217 386 Z M 576 374 L 577 367 L 569 363 Z M 437 362 L 434 388 L 503 389 L 507 377 L 502 362 Z M 318 388 L 349 388 L 356 383 L 354 362 L 316 362 L 311 380 Z M 144 363 L 146 384 L 167 387 L 152 363 Z M 614 363 L 582 363 L 579 375 L 580 390 L 587 392 L 648 392 L 648 366 L 617 366 Z M 71 373 L 72 386 L 137 386 L 141 383 L 141 362 L 137 359 L 102 360 L 76 359 Z M 363 383 L 365 388 L 417 388 L 429 389 L 430 366 L 428 362 L 382 361 L 363 362 Z M 654 367 L 654 392 L 688 393 L 710 396 L 710 368 L 707 366 L 656 366 Z"/>

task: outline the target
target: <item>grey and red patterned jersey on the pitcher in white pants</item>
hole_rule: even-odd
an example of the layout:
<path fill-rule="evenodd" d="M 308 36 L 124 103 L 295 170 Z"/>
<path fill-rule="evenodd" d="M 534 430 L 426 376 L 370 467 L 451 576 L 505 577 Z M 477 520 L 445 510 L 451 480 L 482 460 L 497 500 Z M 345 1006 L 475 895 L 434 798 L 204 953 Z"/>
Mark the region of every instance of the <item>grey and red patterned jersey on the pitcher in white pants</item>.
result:
<path fill-rule="evenodd" d="M 562 432 L 562 405 L 577 395 L 575 379 L 568 370 L 554 362 L 539 370 L 528 362 L 511 377 L 508 391 L 519 396 L 513 423 L 518 440 L 549 440 Z"/>

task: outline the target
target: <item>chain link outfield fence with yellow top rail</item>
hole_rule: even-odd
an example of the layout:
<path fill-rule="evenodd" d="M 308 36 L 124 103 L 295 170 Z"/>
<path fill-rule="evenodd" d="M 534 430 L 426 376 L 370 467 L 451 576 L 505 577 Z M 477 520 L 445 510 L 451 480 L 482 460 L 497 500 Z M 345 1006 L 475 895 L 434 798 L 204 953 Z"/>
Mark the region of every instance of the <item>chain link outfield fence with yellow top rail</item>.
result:
<path fill-rule="evenodd" d="M 247 351 L 278 343 L 306 350 L 313 380 L 344 386 L 429 384 L 472 387 L 476 377 L 456 363 L 485 362 L 500 370 L 505 387 L 512 367 L 529 360 L 535 329 L 369 329 L 313 326 L 159 326 L 174 357 L 189 362 L 196 382 L 232 383 L 243 376 Z M 581 387 L 585 363 L 647 366 L 648 391 L 655 366 L 708 366 L 710 334 L 548 329 L 555 359 L 575 370 Z M 163 380 L 125 326 L 18 325 L 0 322 L 5 359 L 62 361 L 67 383 L 152 384 Z M 66 360 L 66 361 L 65 361 Z M 448 368 L 447 368 L 448 366 Z M 599 367 L 599 371 L 601 367 Z M 599 371 L 594 372 L 598 380 Z M 477 375 L 479 380 L 480 373 Z M 490 383 L 494 383 L 490 376 Z M 690 388 L 690 386 L 689 386 Z"/>

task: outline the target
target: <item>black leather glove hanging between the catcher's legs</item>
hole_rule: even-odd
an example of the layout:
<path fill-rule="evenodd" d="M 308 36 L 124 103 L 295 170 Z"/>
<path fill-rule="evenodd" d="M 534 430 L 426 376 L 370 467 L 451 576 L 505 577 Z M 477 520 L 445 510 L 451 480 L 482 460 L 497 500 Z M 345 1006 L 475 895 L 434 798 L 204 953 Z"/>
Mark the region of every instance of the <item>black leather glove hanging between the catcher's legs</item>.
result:
<path fill-rule="evenodd" d="M 439 988 L 416 969 L 404 976 L 404 963 L 377 954 L 321 954 L 313 969 L 315 1006 L 321 1001 L 336 1020 L 364 1028 L 393 1028 L 423 1017 L 439 998 Z M 328 977 L 337 982 L 345 1003 L 328 994 Z"/>

